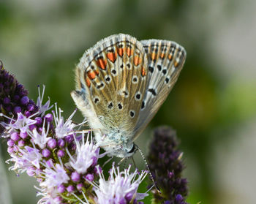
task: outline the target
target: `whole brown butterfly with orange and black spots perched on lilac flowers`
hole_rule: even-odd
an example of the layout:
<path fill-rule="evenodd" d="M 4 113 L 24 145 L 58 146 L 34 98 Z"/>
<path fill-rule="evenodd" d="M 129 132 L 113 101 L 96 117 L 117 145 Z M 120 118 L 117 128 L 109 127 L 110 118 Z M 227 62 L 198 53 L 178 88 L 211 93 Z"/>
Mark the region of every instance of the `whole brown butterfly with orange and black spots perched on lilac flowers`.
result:
<path fill-rule="evenodd" d="M 106 37 L 83 54 L 71 96 L 109 156 L 135 153 L 134 140 L 165 101 L 185 58 L 176 42 L 128 34 Z"/>

